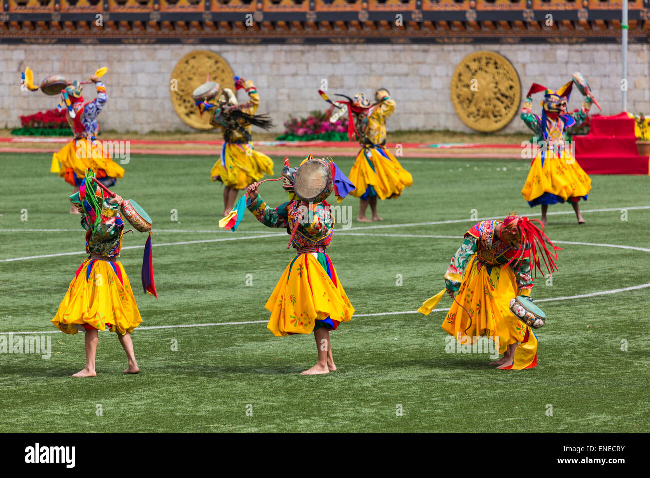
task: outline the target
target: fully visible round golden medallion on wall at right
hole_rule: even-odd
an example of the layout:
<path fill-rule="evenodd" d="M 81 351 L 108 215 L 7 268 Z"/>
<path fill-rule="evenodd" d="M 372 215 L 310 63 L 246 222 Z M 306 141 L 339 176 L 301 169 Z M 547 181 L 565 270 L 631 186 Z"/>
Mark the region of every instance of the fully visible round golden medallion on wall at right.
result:
<path fill-rule="evenodd" d="M 493 51 L 477 51 L 456 67 L 451 80 L 451 101 L 467 126 L 494 133 L 519 113 L 521 83 L 517 70 Z"/>

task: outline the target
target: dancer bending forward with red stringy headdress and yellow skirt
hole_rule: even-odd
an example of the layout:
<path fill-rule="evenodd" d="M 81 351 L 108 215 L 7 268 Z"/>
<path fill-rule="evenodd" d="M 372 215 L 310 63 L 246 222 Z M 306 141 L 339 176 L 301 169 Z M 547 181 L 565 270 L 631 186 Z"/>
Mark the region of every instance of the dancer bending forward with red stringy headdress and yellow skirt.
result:
<path fill-rule="evenodd" d="M 530 299 L 531 269 L 541 272 L 541 258 L 549 273 L 556 271 L 558 250 L 539 220 L 512 213 L 503 221 L 479 222 L 465 233 L 465 242 L 451 260 L 446 289 L 424 302 L 419 312 L 428 315 L 448 293 L 454 303 L 443 323 L 445 332 L 463 345 L 474 345 L 482 337 L 495 341 L 504 356 L 490 365 L 499 369 L 534 368 L 537 337 L 511 312 L 510 301 L 516 296 Z"/>

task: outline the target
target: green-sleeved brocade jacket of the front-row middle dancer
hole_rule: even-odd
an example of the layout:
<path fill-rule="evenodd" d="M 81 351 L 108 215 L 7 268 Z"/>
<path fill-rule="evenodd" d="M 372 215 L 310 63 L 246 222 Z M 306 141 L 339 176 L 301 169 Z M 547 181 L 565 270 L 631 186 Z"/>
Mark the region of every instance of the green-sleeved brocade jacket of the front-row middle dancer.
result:
<path fill-rule="evenodd" d="M 291 234 L 298 222 L 300 202 L 289 201 L 278 207 L 268 207 L 262 196 L 255 201 L 246 198 L 246 207 L 257 217 L 257 220 L 268 228 L 286 228 Z M 308 210 L 308 213 L 306 211 Z M 330 213 L 330 205 L 326 202 L 304 206 L 305 219 L 300 221 L 298 232 L 292 247 L 301 249 L 311 246 L 327 247 L 331 243 L 334 232 L 334 217 Z"/>

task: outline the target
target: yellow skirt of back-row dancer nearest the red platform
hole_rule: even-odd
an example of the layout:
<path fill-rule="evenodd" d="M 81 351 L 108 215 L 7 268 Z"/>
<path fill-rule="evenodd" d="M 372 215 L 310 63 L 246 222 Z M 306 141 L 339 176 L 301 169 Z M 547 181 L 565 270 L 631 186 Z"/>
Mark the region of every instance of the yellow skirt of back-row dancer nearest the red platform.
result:
<path fill-rule="evenodd" d="M 530 206 L 538 204 L 564 203 L 572 200 L 587 199 L 591 191 L 591 178 L 578 165 L 571 152 L 565 157 L 557 157 L 553 150 L 546 153 L 544 165 L 541 165 L 541 153 L 534 159 L 521 191 Z"/>

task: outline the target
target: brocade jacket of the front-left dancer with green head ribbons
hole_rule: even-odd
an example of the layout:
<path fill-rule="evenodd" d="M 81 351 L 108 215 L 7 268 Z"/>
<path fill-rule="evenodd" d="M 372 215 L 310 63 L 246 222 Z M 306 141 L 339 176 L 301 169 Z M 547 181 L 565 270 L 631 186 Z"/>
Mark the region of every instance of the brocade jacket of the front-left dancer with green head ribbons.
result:
<path fill-rule="evenodd" d="M 87 214 L 81 219 L 81 226 L 86 230 L 86 252 L 106 258 L 117 258 L 122 248 L 124 221 L 120 215 L 120 206 L 105 199 L 101 207 L 101 222 L 96 228 Z"/>

